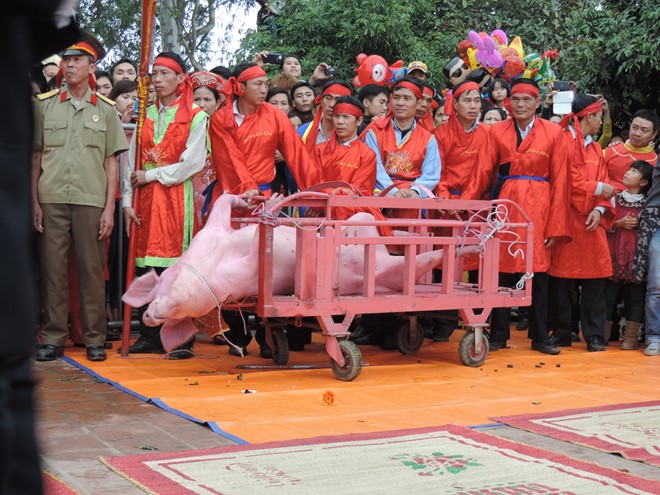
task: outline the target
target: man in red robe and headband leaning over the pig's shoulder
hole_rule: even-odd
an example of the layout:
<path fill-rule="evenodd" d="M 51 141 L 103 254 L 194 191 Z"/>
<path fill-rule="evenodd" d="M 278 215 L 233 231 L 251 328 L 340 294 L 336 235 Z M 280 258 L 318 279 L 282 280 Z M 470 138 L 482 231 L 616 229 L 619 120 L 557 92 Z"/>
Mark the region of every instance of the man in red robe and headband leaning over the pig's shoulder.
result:
<path fill-rule="evenodd" d="M 287 116 L 266 103 L 268 78 L 257 64 L 239 65 L 223 87 L 227 104 L 211 119 L 211 156 L 223 192 L 270 195 L 275 178 L 273 157 L 279 150 L 301 188 L 323 182 L 321 172 L 305 149 Z"/>

